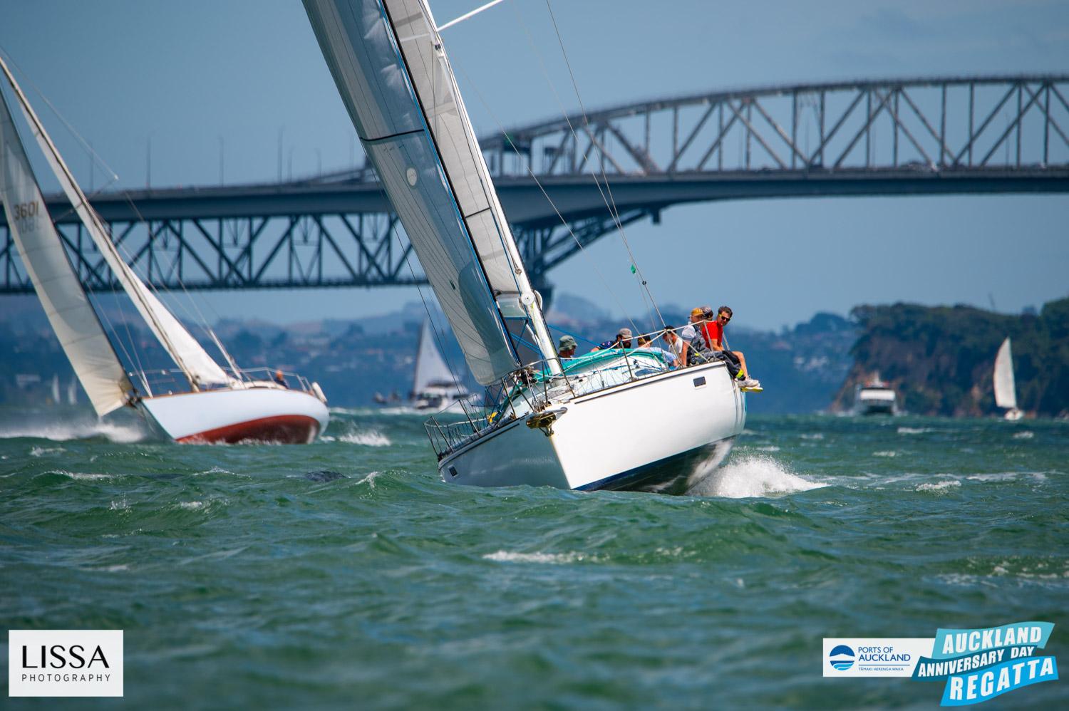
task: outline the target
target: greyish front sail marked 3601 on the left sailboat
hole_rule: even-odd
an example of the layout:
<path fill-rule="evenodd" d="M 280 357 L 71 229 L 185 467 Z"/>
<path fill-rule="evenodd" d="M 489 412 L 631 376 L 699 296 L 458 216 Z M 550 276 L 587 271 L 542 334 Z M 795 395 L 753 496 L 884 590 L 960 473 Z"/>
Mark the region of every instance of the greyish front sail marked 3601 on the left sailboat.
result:
<path fill-rule="evenodd" d="M 2 91 L 0 105 L 0 199 L 7 229 L 93 408 L 106 415 L 126 404 L 133 388 L 45 210 Z"/>

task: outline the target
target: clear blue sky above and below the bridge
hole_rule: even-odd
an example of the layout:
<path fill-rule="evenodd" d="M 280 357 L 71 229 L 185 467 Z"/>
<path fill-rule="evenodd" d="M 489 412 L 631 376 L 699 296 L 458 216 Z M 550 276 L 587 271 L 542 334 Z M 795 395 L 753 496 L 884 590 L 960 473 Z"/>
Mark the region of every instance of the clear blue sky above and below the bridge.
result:
<path fill-rule="evenodd" d="M 439 24 L 478 4 L 432 0 Z M 791 81 L 1069 71 L 1065 2 L 556 0 L 554 11 L 588 108 Z M 507 0 L 445 40 L 480 134 L 493 117 L 556 115 L 547 79 L 575 108 L 544 0 Z M 274 180 L 280 133 L 283 173 L 291 161 L 304 175 L 353 160 L 352 125 L 299 2 L 10 3 L 0 47 L 119 186 L 144 185 L 150 141 L 154 186 L 217 184 L 220 145 L 226 182 Z M 79 180 L 99 187 L 103 171 L 91 175 L 88 155 L 44 118 Z M 729 303 L 738 323 L 778 328 L 862 303 L 993 299 L 1019 311 L 1065 296 L 1066 225 L 1069 196 L 765 200 L 672 207 L 628 237 L 659 302 Z M 551 273 L 557 289 L 618 312 L 589 260 L 623 308 L 641 312 L 618 238 Z M 205 298 L 220 315 L 278 322 L 418 300 L 398 289 Z"/>

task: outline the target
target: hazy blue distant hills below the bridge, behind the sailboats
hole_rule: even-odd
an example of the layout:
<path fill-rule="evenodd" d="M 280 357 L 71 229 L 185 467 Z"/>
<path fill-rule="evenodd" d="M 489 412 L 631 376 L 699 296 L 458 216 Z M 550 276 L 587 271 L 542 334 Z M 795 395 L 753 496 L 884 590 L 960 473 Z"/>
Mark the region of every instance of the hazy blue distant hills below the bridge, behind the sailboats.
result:
<path fill-rule="evenodd" d="M 0 318 L 0 349 L 9 354 L 0 360 L 0 402 L 48 402 L 55 378 L 65 398 L 74 373 L 41 305 L 32 297 L 6 298 L 14 300 Z M 662 312 L 673 326 L 685 321 L 685 309 L 681 307 L 665 306 Z M 446 359 L 469 387 L 477 389 L 445 318 L 437 309 L 433 313 L 444 335 Z M 215 324 L 214 329 L 241 366 L 300 372 L 322 385 L 331 405 L 359 406 L 370 404 L 375 392 L 408 395 L 424 314 L 422 304 L 408 304 L 392 313 L 356 321 L 281 326 L 262 320 L 228 319 Z M 124 318 L 123 309 L 111 307 L 106 322 L 115 326 L 110 336 L 127 365 L 155 370 L 173 368 L 136 316 Z M 610 319 L 599 306 L 568 294 L 555 300 L 548 322 L 555 338 L 564 333 L 577 336 L 580 352 L 631 324 Z M 636 319 L 635 323 L 639 328 L 652 328 L 648 318 Z M 831 405 L 850 369 L 854 324 L 842 316 L 820 313 L 779 334 L 748 330 L 744 325 L 745 314 L 737 314 L 727 338 L 731 347 L 745 352 L 750 369 L 765 387 L 763 393 L 748 399 L 749 412 L 810 413 Z M 210 353 L 216 354 L 199 327 L 191 326 L 190 330 Z M 86 402 L 80 388 L 78 397 Z"/>

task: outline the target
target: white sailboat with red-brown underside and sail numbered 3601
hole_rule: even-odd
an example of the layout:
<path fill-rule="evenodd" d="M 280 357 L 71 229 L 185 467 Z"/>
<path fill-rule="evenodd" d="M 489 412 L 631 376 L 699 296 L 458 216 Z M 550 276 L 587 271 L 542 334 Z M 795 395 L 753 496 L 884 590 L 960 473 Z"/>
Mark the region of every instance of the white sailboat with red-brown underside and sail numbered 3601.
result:
<path fill-rule="evenodd" d="M 150 378 L 167 373 L 127 373 L 123 368 L 45 208 L 0 91 L 0 198 L 7 227 L 49 323 L 96 413 L 104 416 L 124 405 L 137 407 L 177 442 L 314 439 L 329 418 L 319 386 L 298 380 L 300 389 L 289 389 L 270 380 L 255 380 L 232 360 L 231 372 L 223 371 L 119 256 L 104 222 L 90 206 L 2 58 L 0 68 L 93 243 L 176 365 L 185 382 L 182 385 L 189 388 L 175 391 L 174 383 L 160 388 L 157 382 L 154 392 Z M 222 350 L 221 344 L 219 347 Z M 130 376 L 136 377 L 137 385 Z"/>

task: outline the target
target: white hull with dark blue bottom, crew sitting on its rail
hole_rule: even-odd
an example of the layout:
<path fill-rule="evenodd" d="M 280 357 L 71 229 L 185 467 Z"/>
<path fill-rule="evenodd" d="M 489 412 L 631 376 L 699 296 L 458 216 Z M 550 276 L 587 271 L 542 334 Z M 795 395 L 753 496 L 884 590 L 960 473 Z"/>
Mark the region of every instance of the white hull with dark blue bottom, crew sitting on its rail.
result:
<path fill-rule="evenodd" d="M 723 364 L 599 390 L 547 412 L 557 413 L 548 428 L 528 427 L 527 416 L 446 455 L 441 478 L 479 486 L 684 493 L 727 457 L 746 420 L 745 395 Z"/>

